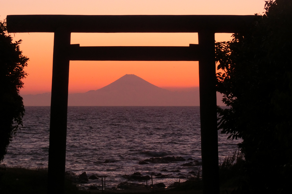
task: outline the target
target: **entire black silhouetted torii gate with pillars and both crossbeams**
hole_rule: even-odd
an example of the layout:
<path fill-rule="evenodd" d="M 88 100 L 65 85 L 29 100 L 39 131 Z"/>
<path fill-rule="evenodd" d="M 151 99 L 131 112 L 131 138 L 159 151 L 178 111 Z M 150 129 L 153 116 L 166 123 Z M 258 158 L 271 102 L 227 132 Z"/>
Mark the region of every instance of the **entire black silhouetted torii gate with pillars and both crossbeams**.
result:
<path fill-rule="evenodd" d="M 64 193 L 70 60 L 199 61 L 203 192 L 219 193 L 215 33 L 248 30 L 254 15 L 8 15 L 8 33 L 53 32 L 48 193 Z M 71 33 L 198 33 L 189 47 L 79 47 Z"/>

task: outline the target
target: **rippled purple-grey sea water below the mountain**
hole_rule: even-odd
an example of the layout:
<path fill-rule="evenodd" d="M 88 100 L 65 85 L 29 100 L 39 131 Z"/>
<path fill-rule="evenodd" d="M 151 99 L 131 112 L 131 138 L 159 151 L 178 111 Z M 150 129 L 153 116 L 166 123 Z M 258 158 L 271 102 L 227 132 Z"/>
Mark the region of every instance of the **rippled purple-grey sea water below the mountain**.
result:
<path fill-rule="evenodd" d="M 49 106 L 25 107 L 23 127 L 13 137 L 4 158 L 7 165 L 48 165 Z M 218 131 L 219 158 L 235 150 L 240 140 L 226 140 Z M 200 114 L 198 106 L 69 106 L 67 121 L 66 170 L 77 175 L 107 176 L 107 186 L 127 181 L 122 175 L 151 172 L 168 175 L 154 179 L 169 186 L 200 166 L 183 167 L 189 161 L 139 165 L 151 157 L 182 156 L 201 160 Z M 115 162 L 104 163 L 105 160 Z M 160 170 L 180 170 L 161 172 Z M 180 173 L 180 174 L 179 174 Z M 85 186 L 100 185 L 101 180 Z"/>

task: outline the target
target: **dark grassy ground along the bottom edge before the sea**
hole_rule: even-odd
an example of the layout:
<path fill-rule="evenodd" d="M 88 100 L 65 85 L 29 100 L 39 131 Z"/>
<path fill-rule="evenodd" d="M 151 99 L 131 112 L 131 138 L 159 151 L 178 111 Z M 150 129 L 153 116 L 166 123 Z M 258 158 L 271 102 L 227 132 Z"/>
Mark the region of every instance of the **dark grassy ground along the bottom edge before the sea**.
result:
<path fill-rule="evenodd" d="M 237 152 L 226 157 L 219 165 L 220 194 L 241 193 L 235 192 L 242 183 L 243 156 Z M 0 193 L 1 194 L 46 194 L 48 171 L 46 168 L 9 168 L 0 165 Z M 141 193 L 141 191 L 109 190 L 110 193 Z M 232 192 L 234 191 L 234 192 Z M 78 185 L 65 180 L 66 194 L 101 193 L 99 190 L 79 190 Z M 150 191 L 148 191 L 150 192 Z M 155 191 L 154 191 L 155 192 Z M 104 192 L 108 193 L 108 192 Z M 155 192 L 159 194 L 201 194 L 202 181 L 197 177 L 194 181 L 188 180 L 179 188 Z"/>

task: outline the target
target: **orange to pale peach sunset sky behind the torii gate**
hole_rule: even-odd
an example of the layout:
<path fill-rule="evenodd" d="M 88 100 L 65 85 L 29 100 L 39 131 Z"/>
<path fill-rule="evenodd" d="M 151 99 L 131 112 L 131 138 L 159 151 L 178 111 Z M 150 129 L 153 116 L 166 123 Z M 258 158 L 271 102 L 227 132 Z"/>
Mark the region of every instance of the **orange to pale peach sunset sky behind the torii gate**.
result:
<path fill-rule="evenodd" d="M 0 20 L 7 15 L 253 15 L 262 14 L 262 0 L 9 0 L 1 1 Z M 215 34 L 228 41 L 231 34 Z M 16 33 L 30 58 L 20 94 L 51 91 L 53 33 Z M 197 33 L 72 33 L 80 46 L 188 46 Z M 199 86 L 198 62 L 70 61 L 69 93 L 97 90 L 125 74 L 135 74 L 163 88 Z"/>

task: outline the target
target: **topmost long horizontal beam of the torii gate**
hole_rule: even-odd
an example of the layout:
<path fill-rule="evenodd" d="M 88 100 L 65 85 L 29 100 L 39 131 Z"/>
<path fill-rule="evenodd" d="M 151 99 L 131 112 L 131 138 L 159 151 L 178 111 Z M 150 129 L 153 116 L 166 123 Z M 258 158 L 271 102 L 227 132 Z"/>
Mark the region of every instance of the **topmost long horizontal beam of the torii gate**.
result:
<path fill-rule="evenodd" d="M 183 33 L 245 30 L 255 15 L 7 15 L 7 30 L 75 33 Z"/>

